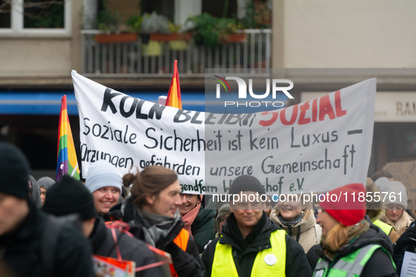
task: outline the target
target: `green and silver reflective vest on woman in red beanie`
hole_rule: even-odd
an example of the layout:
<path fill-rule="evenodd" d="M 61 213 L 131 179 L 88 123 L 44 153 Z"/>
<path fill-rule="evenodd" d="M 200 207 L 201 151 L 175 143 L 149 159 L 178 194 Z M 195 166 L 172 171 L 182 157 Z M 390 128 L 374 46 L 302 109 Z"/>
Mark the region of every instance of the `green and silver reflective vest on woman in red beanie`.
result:
<path fill-rule="evenodd" d="M 342 257 L 335 264 L 333 262 L 329 264 L 328 260 L 320 258 L 315 266 L 315 271 L 313 271 L 313 277 L 358 277 L 361 275 L 365 264 L 372 257 L 374 251 L 379 248 L 389 255 L 391 264 L 393 264 L 396 270 L 393 258 L 387 250 L 380 245 L 366 245 Z"/>

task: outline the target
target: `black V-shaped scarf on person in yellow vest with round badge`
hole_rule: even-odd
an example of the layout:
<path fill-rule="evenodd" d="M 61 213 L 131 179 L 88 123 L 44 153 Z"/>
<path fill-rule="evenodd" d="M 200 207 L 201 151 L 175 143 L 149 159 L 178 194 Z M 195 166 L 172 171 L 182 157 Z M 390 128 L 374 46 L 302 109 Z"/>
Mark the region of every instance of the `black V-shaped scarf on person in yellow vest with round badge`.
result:
<path fill-rule="evenodd" d="M 237 219 L 234 217 L 234 213 L 229 214 L 229 217 L 227 219 L 227 225 L 229 226 L 229 235 L 232 237 L 232 240 L 234 240 L 237 245 L 241 248 L 241 252 L 244 252 L 244 250 L 247 249 L 248 246 L 253 243 L 253 241 L 257 238 L 258 234 L 263 229 L 263 226 L 265 226 L 266 223 L 266 213 L 263 212 L 263 216 L 260 218 L 260 220 L 257 222 L 256 226 L 254 226 L 253 230 L 248 233 L 246 238 L 243 238 L 243 235 L 241 234 L 239 225 L 237 224 Z"/>

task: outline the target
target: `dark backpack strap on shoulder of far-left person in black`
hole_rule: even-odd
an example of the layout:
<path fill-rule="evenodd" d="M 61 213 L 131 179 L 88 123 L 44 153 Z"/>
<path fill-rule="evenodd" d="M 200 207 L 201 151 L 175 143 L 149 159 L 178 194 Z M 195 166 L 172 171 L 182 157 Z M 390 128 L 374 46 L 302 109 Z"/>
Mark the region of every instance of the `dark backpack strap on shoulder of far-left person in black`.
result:
<path fill-rule="evenodd" d="M 44 233 L 41 243 L 42 264 L 46 270 L 46 276 L 53 276 L 56 264 L 56 245 L 59 234 L 65 224 L 74 225 L 82 230 L 82 222 L 77 214 L 70 214 L 64 217 L 55 217 L 52 214 L 46 216 Z"/>

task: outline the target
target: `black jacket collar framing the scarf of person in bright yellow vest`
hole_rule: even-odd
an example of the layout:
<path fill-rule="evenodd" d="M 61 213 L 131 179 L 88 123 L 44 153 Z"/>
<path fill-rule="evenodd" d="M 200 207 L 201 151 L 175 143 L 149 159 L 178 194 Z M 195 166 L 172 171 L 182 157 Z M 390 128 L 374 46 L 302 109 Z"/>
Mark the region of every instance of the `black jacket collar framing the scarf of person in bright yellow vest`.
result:
<path fill-rule="evenodd" d="M 230 214 L 230 217 L 234 216 L 233 213 Z M 265 213 L 263 212 L 263 216 L 265 216 Z M 228 221 L 228 220 L 227 220 Z M 232 247 L 236 248 L 241 252 L 241 247 L 239 244 L 232 238 L 232 234 L 229 231 L 229 226 L 227 226 L 228 222 L 222 226 L 222 237 L 220 237 L 219 242 L 221 244 L 228 244 Z M 270 235 L 272 232 L 279 230 L 279 226 L 277 226 L 274 222 L 270 221 L 268 218 L 265 221 L 265 224 L 263 228 L 261 229 L 260 233 L 258 233 L 258 236 L 253 240 L 250 245 L 244 250 L 242 255 L 245 255 L 249 252 L 259 252 L 265 249 L 269 249 L 272 247 L 270 244 Z"/>

